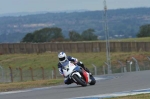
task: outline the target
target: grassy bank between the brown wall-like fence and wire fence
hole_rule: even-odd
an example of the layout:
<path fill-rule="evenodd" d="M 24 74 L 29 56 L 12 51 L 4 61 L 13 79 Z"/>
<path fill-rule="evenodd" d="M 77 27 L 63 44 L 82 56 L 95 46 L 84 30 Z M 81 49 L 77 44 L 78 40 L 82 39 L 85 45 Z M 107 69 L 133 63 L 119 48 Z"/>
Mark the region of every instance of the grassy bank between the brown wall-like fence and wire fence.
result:
<path fill-rule="evenodd" d="M 67 53 L 67 52 L 66 52 Z M 52 67 L 57 68 L 58 64 L 58 53 L 42 53 L 42 54 L 7 54 L 0 55 L 0 65 L 4 68 L 8 68 L 9 66 L 13 68 L 22 68 L 29 69 L 32 67 L 34 69 L 44 67 L 46 69 L 52 69 Z M 94 64 L 98 67 L 104 65 L 106 61 L 106 53 L 98 52 L 98 53 L 67 53 L 69 56 L 73 56 L 81 60 L 86 67 L 92 68 L 91 64 Z M 150 56 L 150 52 L 117 52 L 111 53 L 111 61 L 115 63 L 118 59 L 125 62 L 128 57 L 133 56 Z"/>

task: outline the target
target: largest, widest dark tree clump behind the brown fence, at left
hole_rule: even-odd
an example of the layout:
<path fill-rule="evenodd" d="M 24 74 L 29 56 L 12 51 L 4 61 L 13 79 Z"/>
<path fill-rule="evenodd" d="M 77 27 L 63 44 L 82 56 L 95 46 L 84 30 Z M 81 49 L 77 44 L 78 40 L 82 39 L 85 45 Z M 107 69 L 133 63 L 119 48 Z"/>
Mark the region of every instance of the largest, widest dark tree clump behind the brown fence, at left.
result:
<path fill-rule="evenodd" d="M 28 33 L 23 38 L 22 42 L 50 42 L 50 41 L 62 41 L 64 39 L 62 35 L 62 29 L 53 28 L 43 28 L 41 30 L 36 30 L 33 33 Z"/>

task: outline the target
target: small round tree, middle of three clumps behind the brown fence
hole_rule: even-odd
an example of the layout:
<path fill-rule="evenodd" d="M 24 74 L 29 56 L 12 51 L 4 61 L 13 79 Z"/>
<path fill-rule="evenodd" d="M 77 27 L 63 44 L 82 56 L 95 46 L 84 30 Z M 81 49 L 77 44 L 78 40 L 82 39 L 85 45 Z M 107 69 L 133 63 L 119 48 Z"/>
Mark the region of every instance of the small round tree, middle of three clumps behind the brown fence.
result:
<path fill-rule="evenodd" d="M 80 41 L 81 35 L 76 31 L 69 31 L 69 39 L 72 41 Z"/>

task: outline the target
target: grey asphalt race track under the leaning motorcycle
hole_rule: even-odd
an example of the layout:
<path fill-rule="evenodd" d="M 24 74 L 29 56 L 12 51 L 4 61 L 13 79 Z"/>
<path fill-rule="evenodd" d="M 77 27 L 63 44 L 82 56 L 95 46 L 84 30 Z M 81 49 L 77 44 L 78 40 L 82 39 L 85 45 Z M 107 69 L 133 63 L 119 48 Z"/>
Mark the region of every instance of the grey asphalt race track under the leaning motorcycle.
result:
<path fill-rule="evenodd" d="M 81 87 L 76 84 L 0 93 L 0 99 L 75 99 L 99 94 L 111 94 L 150 88 L 150 71 L 138 71 L 96 76 L 96 85 Z"/>

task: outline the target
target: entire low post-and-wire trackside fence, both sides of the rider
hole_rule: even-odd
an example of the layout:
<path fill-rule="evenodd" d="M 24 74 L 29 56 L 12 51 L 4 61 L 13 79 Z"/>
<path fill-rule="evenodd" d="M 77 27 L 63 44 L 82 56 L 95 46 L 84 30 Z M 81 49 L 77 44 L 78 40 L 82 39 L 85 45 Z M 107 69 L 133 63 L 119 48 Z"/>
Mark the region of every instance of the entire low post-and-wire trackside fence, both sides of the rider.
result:
<path fill-rule="evenodd" d="M 130 60 L 126 61 L 116 61 L 116 63 L 111 65 L 112 73 L 126 73 L 142 70 L 150 70 L 150 57 L 144 61 Z M 118 63 L 117 63 L 118 62 Z M 93 75 L 104 75 L 107 74 L 107 65 L 95 66 L 89 68 Z M 0 66 L 0 82 L 22 82 L 22 81 L 34 81 L 34 80 L 46 80 L 46 79 L 56 79 L 62 78 L 59 74 L 57 68 L 53 67 L 47 69 L 44 67 L 40 68 L 3 68 Z M 137 69 L 138 67 L 138 69 Z"/>

